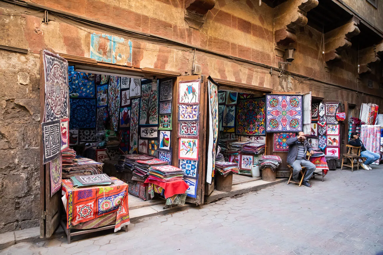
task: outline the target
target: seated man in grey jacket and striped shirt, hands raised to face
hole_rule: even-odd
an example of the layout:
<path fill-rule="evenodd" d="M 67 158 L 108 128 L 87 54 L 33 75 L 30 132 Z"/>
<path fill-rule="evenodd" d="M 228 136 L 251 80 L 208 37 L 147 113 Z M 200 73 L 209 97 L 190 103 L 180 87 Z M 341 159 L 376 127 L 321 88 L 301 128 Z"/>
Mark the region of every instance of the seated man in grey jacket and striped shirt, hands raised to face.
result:
<path fill-rule="evenodd" d="M 299 182 L 298 175 L 304 166 L 307 170 L 302 184 L 306 187 L 311 187 L 308 180 L 313 176 L 315 165 L 306 159 L 306 153 L 309 151 L 310 154 L 313 154 L 313 148 L 311 148 L 303 132 L 299 132 L 296 137 L 289 138 L 286 143 L 289 146 L 287 163 L 293 167 L 293 181 Z"/>

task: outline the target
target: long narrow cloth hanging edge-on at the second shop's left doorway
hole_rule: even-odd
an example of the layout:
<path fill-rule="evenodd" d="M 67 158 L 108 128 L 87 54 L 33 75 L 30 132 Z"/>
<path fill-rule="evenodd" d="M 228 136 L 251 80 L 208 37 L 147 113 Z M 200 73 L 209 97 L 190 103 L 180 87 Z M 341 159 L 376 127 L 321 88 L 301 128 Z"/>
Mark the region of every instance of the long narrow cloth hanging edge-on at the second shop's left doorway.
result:
<path fill-rule="evenodd" d="M 208 144 L 208 162 L 206 168 L 206 182 L 211 184 L 211 179 L 214 177 L 215 169 L 215 159 L 216 159 L 216 145 L 218 139 L 218 86 L 208 79 L 208 98 L 209 100 L 209 144 Z M 231 106 L 226 106 L 226 108 L 231 108 Z M 231 117 L 228 117 L 226 120 L 231 120 L 228 122 L 228 125 L 232 123 L 234 127 L 234 115 L 235 115 L 235 106 L 232 106 L 231 110 L 227 111 L 227 115 L 231 114 Z M 224 110 L 224 120 L 225 120 L 225 110 Z"/>

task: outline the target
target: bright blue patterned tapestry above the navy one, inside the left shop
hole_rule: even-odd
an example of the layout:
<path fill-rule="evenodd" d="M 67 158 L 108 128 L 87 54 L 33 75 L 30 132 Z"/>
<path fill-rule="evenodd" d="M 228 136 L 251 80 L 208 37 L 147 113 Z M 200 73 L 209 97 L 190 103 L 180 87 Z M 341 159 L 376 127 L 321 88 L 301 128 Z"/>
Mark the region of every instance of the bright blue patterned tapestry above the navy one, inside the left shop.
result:
<path fill-rule="evenodd" d="M 95 97 L 95 75 L 77 72 L 74 66 L 68 67 L 69 96 L 77 98 Z"/>

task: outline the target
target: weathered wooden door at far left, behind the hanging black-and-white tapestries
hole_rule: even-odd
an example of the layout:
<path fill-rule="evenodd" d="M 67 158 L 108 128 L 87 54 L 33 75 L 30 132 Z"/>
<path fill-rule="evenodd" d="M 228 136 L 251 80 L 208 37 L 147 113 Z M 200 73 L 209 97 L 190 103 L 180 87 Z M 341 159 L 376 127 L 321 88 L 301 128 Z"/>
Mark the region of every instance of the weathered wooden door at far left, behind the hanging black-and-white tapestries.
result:
<path fill-rule="evenodd" d="M 51 52 L 53 52 L 51 50 Z M 54 53 L 54 52 L 53 52 Z M 55 53 L 56 54 L 56 53 Z M 43 51 L 40 53 L 40 122 L 43 122 L 45 106 L 45 79 L 43 65 Z M 68 77 L 65 77 L 67 79 Z M 51 237 L 57 229 L 61 219 L 61 191 L 51 197 L 51 175 L 49 164 L 43 164 L 43 139 L 40 125 L 40 238 Z"/>

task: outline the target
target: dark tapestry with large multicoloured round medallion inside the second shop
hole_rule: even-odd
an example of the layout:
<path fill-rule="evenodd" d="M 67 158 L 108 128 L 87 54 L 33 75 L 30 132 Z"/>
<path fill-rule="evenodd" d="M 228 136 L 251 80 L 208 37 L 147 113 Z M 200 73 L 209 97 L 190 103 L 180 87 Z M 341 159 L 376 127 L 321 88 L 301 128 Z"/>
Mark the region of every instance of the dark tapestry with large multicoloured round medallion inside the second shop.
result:
<path fill-rule="evenodd" d="M 237 109 L 237 135 L 265 135 L 264 98 L 240 100 Z"/>

